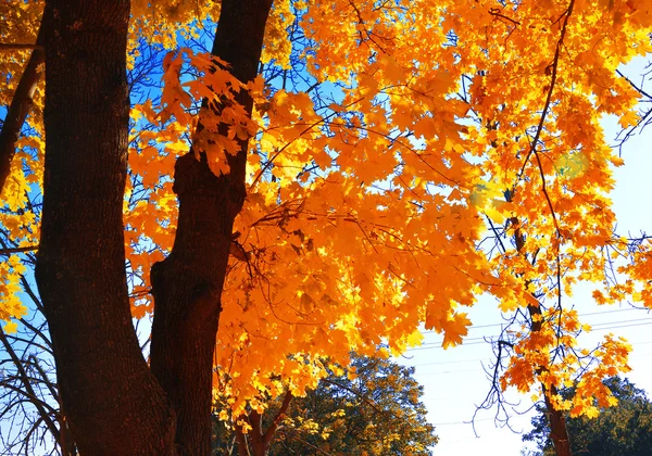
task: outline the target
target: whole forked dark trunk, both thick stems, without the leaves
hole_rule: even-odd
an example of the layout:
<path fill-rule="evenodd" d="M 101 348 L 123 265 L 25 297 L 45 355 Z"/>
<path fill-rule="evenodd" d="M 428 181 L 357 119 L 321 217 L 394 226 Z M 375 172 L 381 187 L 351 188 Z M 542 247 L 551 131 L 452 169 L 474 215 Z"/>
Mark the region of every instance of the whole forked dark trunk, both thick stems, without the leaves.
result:
<path fill-rule="evenodd" d="M 222 2 L 213 53 L 242 81 L 256 75 L 271 5 Z M 212 354 L 233 223 L 244 200 L 248 141 L 229 156 L 227 176 L 214 176 L 191 153 L 177 162 L 175 244 L 152 268 L 150 371 L 131 326 L 124 263 L 128 18 L 128 0 L 47 2 L 36 279 L 79 452 L 209 455 Z M 251 114 L 246 92 L 238 101 Z"/>

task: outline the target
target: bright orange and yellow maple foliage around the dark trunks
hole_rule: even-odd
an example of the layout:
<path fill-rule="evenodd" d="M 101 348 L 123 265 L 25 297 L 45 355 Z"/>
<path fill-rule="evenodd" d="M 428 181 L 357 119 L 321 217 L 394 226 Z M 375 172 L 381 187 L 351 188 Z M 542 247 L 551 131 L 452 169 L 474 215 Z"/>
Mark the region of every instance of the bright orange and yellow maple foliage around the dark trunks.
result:
<path fill-rule="evenodd" d="M 3 2 L 1 41 L 35 42 L 42 8 Z M 212 1 L 131 2 L 123 219 L 131 314 L 150 318 L 152 266 L 178 228 L 177 159 L 190 150 L 229 176 L 246 148 L 246 198 L 213 296 L 213 387 L 230 414 L 304 394 L 352 351 L 402 353 L 423 327 L 444 347 L 463 343 L 464 307 L 481 294 L 505 313 L 540 309 L 503 388 L 554 392 L 581 372 L 574 397 L 550 397 L 555 407 L 592 415 L 594 396 L 613 402 L 601 380 L 628 369 L 629 345 L 607 335 L 582 352 L 588 328 L 569 308 L 579 282 L 599 304 L 652 304 L 647 244 L 624 284 L 609 280 L 628 244 L 609 197 L 623 160 L 600 125 L 637 122 L 639 92 L 616 69 L 652 51 L 648 0 L 276 0 L 250 80 L 208 52 L 220 14 Z M 2 49 L 2 106 L 30 55 Z M 28 312 L 21 278 L 39 245 L 43 93 L 2 188 L 5 331 Z"/>

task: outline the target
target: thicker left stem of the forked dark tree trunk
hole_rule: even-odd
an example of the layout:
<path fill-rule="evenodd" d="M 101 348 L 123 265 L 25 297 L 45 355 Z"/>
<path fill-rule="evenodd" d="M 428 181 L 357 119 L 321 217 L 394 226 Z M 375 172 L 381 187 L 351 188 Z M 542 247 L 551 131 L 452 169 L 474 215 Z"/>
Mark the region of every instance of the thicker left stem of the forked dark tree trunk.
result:
<path fill-rule="evenodd" d="M 48 1 L 43 13 L 46 170 L 36 280 L 83 455 L 174 453 L 174 411 L 140 353 L 125 277 L 128 18 L 128 0 Z"/>

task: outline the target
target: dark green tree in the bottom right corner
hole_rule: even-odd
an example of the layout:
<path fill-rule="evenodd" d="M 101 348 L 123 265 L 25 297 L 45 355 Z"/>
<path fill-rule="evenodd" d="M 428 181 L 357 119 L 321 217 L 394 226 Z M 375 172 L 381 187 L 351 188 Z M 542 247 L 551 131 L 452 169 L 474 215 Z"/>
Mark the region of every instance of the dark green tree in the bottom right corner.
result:
<path fill-rule="evenodd" d="M 612 377 L 604 381 L 618 400 L 618 405 L 601 408 L 597 417 L 568 418 L 574 455 L 647 455 L 652 445 L 652 403 L 645 392 L 627 379 Z M 564 393 L 564 392 L 563 392 Z M 568 390 L 565 393 L 569 393 Z M 534 429 L 523 436 L 525 442 L 535 442 L 539 454 L 554 455 L 549 439 L 548 414 L 537 407 L 532 418 Z"/>

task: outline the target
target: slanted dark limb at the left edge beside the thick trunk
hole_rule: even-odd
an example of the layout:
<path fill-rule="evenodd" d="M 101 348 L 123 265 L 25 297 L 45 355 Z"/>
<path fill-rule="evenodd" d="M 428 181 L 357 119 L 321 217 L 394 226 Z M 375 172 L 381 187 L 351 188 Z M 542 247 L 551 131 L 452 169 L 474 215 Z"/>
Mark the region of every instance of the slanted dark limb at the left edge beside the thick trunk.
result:
<path fill-rule="evenodd" d="M 7 111 L 2 131 L 0 131 L 0 193 L 11 170 L 11 162 L 15 155 L 16 141 L 21 137 L 21 129 L 34 104 L 36 86 L 42 78 L 42 72 L 39 66 L 46 59 L 46 53 L 42 49 L 46 34 L 45 28 L 45 23 L 41 21 L 36 39 L 37 47 L 32 51 L 27 65 L 25 65 L 21 80 L 16 86 L 11 104 Z"/>

